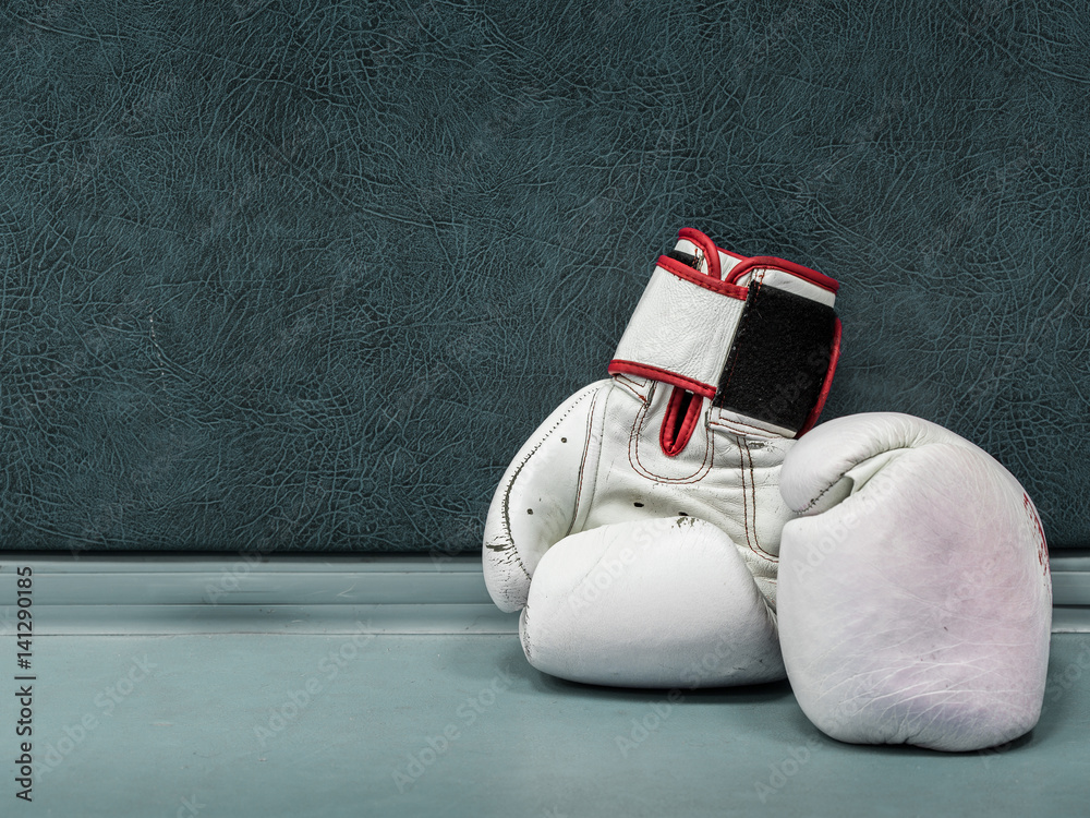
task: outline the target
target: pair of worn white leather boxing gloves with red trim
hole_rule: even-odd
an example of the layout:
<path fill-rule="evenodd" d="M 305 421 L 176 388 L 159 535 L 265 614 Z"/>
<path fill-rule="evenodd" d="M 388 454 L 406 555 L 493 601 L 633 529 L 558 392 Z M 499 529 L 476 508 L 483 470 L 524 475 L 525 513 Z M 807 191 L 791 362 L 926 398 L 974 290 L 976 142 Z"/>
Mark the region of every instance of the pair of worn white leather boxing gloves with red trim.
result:
<path fill-rule="evenodd" d="M 631 687 L 789 678 L 827 735 L 970 750 L 1037 723 L 1047 551 L 1018 481 L 897 413 L 813 429 L 837 282 L 679 232 L 609 363 L 511 462 L 484 575 L 529 662 Z"/>

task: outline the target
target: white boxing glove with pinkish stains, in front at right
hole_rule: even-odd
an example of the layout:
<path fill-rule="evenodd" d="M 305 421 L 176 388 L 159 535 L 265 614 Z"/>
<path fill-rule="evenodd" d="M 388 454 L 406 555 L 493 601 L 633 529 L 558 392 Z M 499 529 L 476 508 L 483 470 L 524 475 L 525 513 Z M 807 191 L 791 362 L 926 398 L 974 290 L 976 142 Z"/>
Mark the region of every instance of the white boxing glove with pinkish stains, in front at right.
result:
<path fill-rule="evenodd" d="M 907 414 L 823 423 L 782 491 L 779 633 L 802 710 L 858 744 L 972 750 L 1037 723 L 1052 584 L 1017 480 Z"/>

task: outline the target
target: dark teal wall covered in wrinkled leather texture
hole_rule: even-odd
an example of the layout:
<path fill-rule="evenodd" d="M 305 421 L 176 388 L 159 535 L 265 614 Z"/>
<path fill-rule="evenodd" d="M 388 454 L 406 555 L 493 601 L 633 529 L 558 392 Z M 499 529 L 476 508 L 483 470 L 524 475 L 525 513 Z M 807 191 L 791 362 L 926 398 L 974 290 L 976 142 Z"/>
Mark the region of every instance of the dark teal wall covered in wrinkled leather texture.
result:
<path fill-rule="evenodd" d="M 686 225 L 1090 545 L 1077 3 L 0 8 L 0 546 L 459 551 Z"/>

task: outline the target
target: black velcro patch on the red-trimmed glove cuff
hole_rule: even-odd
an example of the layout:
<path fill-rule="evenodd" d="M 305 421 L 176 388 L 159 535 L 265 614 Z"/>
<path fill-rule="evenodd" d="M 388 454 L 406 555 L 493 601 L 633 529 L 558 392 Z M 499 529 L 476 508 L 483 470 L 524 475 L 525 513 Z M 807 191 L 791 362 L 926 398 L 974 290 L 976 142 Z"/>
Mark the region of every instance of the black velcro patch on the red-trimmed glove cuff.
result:
<path fill-rule="evenodd" d="M 821 395 L 835 333 L 832 306 L 750 285 L 712 405 L 798 432 Z"/>

